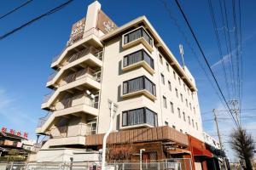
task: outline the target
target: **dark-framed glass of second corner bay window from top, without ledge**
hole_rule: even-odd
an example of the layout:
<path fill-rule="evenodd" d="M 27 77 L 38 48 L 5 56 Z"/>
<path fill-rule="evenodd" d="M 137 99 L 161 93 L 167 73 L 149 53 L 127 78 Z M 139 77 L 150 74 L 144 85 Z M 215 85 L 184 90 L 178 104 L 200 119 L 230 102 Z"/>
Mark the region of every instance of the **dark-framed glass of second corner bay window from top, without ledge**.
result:
<path fill-rule="evenodd" d="M 146 61 L 146 63 L 148 63 L 148 65 L 150 65 L 150 67 L 154 69 L 154 59 L 152 59 L 144 49 L 141 49 L 132 54 L 125 55 L 124 67 L 128 65 L 133 65 L 142 60 Z"/>

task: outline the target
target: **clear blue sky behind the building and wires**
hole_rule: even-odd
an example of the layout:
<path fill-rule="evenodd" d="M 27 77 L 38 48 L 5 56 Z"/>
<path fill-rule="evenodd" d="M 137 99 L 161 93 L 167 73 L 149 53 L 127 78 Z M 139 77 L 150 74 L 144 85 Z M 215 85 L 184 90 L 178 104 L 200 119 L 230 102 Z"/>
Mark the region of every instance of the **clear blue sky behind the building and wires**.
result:
<path fill-rule="evenodd" d="M 24 3 L 19 1 L 0 1 L 0 15 L 10 9 Z M 54 8 L 65 1 L 44 0 L 33 1 L 26 8 L 21 8 L 15 14 L 0 20 L 0 36 L 5 32 L 20 26 L 24 22 L 43 14 L 49 8 Z M 35 128 L 38 118 L 47 112 L 40 110 L 44 94 L 49 93 L 45 88 L 47 78 L 52 72 L 50 63 L 52 58 L 64 48 L 74 22 L 83 18 L 86 14 L 87 5 L 93 1 L 75 0 L 61 11 L 51 14 L 31 26 L 16 32 L 15 34 L 0 40 L 0 127 L 14 128 L 28 132 L 31 139 L 36 139 Z M 218 4 L 213 1 L 213 8 Z M 228 13 L 231 9 L 231 1 L 228 0 Z M 118 25 L 122 26 L 138 16 L 146 15 L 148 20 L 159 32 L 172 53 L 181 61 L 178 53 L 178 44 L 182 43 L 184 48 L 185 63 L 195 77 L 201 105 L 203 127 L 207 133 L 216 137 L 216 130 L 212 122 L 212 109 L 224 110 L 213 90 L 207 77 L 201 70 L 200 65 L 185 42 L 184 37 L 178 31 L 173 20 L 166 12 L 163 3 L 159 0 L 102 0 L 102 9 Z M 207 0 L 205 1 L 180 1 L 188 15 L 191 25 L 201 42 L 207 59 L 216 73 L 221 88 L 224 89 L 224 77 L 221 66 L 218 64 L 219 55 L 217 42 L 213 34 L 211 15 Z M 255 29 L 255 1 L 241 1 L 241 28 L 242 28 L 242 60 L 243 60 L 243 96 L 242 109 L 256 108 L 256 95 L 253 90 L 256 86 L 256 29 Z M 204 64 L 195 41 L 191 37 L 181 14 L 177 10 L 174 1 L 168 1 L 168 8 L 172 16 L 177 20 L 181 30 L 188 37 L 191 46 Z M 216 11 L 218 12 L 218 11 Z M 219 19 L 219 18 L 218 18 Z M 231 20 L 231 17 L 230 17 Z M 218 20 L 218 23 L 220 21 Z M 219 25 L 218 31 L 223 33 L 224 28 Z M 230 30 L 232 31 L 232 30 Z M 224 55 L 229 55 L 224 53 Z M 205 66 L 206 68 L 206 66 Z M 241 116 L 255 116 L 254 111 L 242 111 Z M 227 116 L 226 112 L 218 112 L 219 117 Z M 242 125 L 256 134 L 256 117 L 245 117 L 241 119 Z M 224 142 L 228 140 L 227 134 L 232 129 L 233 123 L 229 120 L 221 120 L 220 127 L 224 135 Z M 228 155 L 233 159 L 234 154 L 230 151 L 227 143 Z"/>

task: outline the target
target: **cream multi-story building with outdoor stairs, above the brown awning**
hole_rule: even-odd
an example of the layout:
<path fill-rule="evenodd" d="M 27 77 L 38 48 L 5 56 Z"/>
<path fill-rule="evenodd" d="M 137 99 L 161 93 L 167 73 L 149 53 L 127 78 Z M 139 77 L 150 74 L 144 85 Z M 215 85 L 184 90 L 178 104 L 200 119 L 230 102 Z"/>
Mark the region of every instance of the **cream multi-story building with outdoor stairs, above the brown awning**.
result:
<path fill-rule="evenodd" d="M 203 140 L 195 79 L 145 16 L 118 27 L 91 3 L 51 68 L 53 91 L 42 104 L 49 114 L 37 128 L 50 136 L 42 150 L 88 148 L 89 136 L 108 130 L 108 99 L 118 105 L 114 132 L 168 126 L 184 144 L 185 133 Z"/>

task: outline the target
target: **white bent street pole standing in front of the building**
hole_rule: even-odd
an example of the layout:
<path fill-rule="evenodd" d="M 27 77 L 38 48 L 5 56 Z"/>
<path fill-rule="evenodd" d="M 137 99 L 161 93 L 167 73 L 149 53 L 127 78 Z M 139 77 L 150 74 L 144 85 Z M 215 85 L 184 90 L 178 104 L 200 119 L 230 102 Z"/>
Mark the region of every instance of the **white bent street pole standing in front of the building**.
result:
<path fill-rule="evenodd" d="M 108 127 L 108 132 L 104 135 L 103 144 L 102 144 L 102 170 L 105 170 L 106 163 L 106 145 L 109 133 L 111 133 L 113 128 L 113 118 L 115 117 L 115 113 L 117 111 L 118 105 L 114 104 L 112 100 L 108 99 L 108 108 L 110 110 L 110 123 Z"/>

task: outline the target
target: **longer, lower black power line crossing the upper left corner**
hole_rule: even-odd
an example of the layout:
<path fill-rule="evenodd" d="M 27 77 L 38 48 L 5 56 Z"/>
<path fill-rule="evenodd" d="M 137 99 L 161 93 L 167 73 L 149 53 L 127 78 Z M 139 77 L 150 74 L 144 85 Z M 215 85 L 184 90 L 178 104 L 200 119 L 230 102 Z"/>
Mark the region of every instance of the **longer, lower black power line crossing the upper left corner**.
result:
<path fill-rule="evenodd" d="M 50 9 L 47 13 L 41 14 L 41 15 L 39 15 L 38 17 L 36 17 L 36 18 L 34 18 L 34 19 L 32 19 L 32 20 L 26 22 L 24 25 L 19 26 L 19 27 L 15 28 L 14 30 L 7 32 L 6 34 L 4 34 L 3 36 L 0 37 L 0 40 L 3 40 L 5 37 L 9 37 L 10 35 L 12 35 L 13 33 L 15 33 L 16 31 L 19 31 L 19 30 L 21 30 L 22 28 L 31 25 L 33 22 L 36 22 L 36 21 L 38 21 L 38 20 L 44 18 L 45 16 L 47 16 L 47 15 L 49 15 L 49 14 L 54 14 L 55 12 L 61 10 L 61 8 L 66 7 L 67 4 L 72 3 L 72 2 L 73 2 L 73 0 L 68 0 L 66 3 L 62 3 L 62 4 L 59 5 L 58 7 Z"/>

